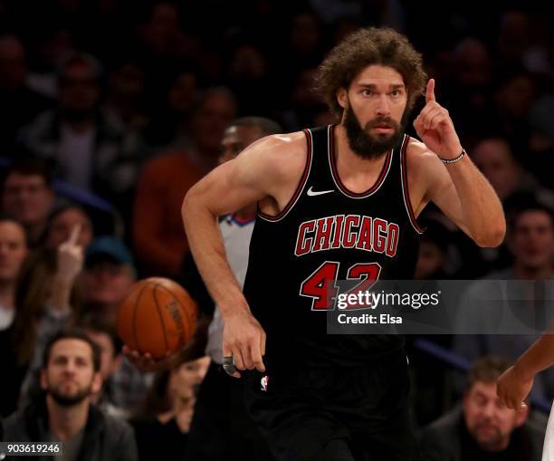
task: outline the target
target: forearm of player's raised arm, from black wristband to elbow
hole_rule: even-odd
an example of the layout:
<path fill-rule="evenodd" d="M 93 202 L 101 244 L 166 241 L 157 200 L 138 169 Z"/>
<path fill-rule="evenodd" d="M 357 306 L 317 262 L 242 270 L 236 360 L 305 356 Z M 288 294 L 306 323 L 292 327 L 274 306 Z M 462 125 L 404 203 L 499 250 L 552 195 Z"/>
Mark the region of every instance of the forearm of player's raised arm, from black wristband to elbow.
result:
<path fill-rule="evenodd" d="M 460 203 L 463 222 L 477 245 L 498 246 L 504 239 L 506 220 L 501 201 L 470 158 L 446 166 Z"/>

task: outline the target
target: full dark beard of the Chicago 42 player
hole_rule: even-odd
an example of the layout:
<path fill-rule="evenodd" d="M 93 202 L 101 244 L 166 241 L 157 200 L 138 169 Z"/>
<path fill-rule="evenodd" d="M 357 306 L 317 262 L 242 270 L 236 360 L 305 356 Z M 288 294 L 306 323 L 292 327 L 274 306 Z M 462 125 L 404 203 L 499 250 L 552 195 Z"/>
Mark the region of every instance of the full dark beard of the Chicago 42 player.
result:
<path fill-rule="evenodd" d="M 345 109 L 345 117 L 342 124 L 346 130 L 349 148 L 361 158 L 380 158 L 393 149 L 404 137 L 407 112 L 405 111 L 400 123 L 392 120 L 390 117 L 377 117 L 369 120 L 366 126 L 362 128 L 358 117 L 352 110 L 350 104 Z M 386 124 L 387 128 L 393 130 L 393 134 L 380 134 L 374 137 L 369 134 L 369 130 L 377 125 Z"/>

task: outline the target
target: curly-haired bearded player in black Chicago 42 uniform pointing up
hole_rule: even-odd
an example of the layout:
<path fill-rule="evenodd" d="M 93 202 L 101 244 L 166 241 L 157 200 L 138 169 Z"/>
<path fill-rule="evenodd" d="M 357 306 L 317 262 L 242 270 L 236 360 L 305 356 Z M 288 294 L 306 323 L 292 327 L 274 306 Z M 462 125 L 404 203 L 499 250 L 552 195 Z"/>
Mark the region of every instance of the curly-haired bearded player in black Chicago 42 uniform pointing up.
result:
<path fill-rule="evenodd" d="M 362 29 L 320 66 L 338 125 L 261 139 L 191 188 L 182 214 L 224 320 L 224 366 L 279 460 L 416 459 L 399 336 L 327 335 L 334 280 L 406 279 L 429 201 L 482 246 L 499 245 L 498 197 L 474 167 L 421 56 L 392 30 Z M 271 91 L 271 89 L 268 89 Z M 216 216 L 258 202 L 244 294 Z M 237 449 L 240 449 L 237 447 Z"/>

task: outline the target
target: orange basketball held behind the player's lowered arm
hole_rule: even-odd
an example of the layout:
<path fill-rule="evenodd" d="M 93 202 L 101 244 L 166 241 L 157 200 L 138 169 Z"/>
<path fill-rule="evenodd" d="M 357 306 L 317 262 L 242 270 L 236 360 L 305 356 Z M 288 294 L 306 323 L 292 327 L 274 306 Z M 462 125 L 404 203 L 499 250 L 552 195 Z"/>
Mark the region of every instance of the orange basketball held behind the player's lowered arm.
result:
<path fill-rule="evenodd" d="M 119 304 L 118 334 L 129 349 L 160 359 L 192 339 L 197 316 L 196 303 L 182 286 L 152 277 L 135 283 Z"/>

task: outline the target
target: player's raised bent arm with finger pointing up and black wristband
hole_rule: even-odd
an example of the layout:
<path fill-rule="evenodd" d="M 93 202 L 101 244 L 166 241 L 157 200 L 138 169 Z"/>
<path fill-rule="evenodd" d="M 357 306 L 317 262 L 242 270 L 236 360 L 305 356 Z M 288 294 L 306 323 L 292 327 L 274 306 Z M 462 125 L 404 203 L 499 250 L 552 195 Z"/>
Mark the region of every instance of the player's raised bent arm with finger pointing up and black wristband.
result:
<path fill-rule="evenodd" d="M 435 101 L 435 80 L 427 83 L 425 107 L 414 121 L 425 143 L 419 163 L 425 164 L 423 203 L 433 201 L 446 216 L 480 246 L 498 246 L 504 239 L 506 220 L 501 201 L 491 184 L 467 155 L 455 163 L 462 144 L 448 110 Z M 423 165 L 420 165 L 423 166 Z"/>

